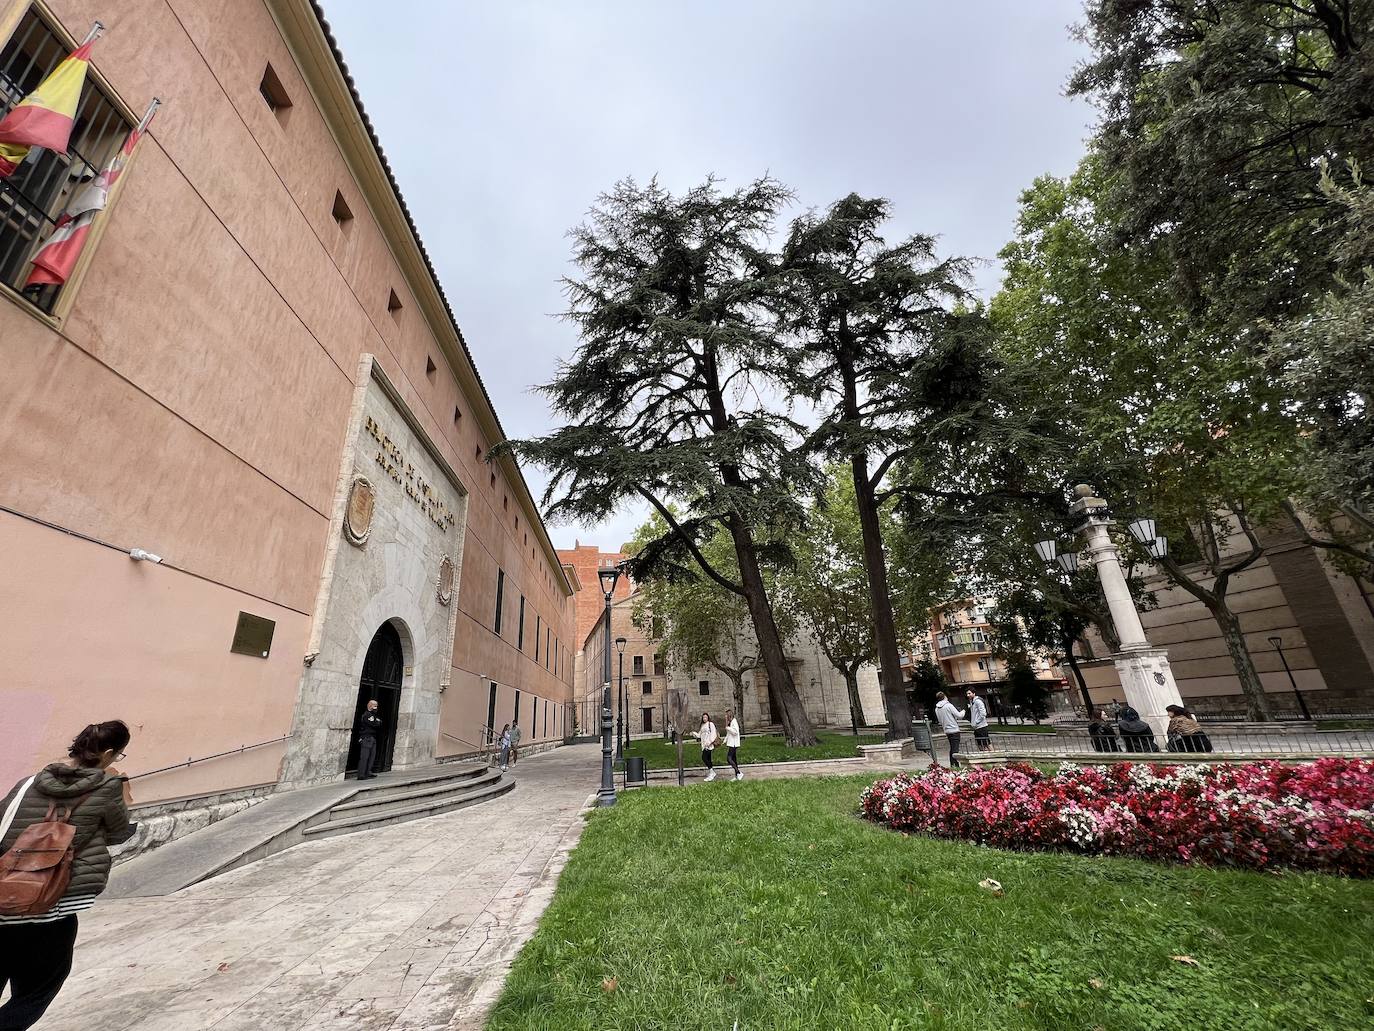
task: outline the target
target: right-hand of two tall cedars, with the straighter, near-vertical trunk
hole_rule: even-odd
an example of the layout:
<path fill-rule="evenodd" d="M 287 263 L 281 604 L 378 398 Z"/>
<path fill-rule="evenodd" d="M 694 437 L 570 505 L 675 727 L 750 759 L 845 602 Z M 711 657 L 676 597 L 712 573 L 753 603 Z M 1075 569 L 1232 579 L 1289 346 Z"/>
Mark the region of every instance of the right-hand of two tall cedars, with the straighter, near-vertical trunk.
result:
<path fill-rule="evenodd" d="M 912 417 L 944 407 L 948 395 L 921 395 L 915 367 L 949 322 L 949 308 L 967 296 L 967 263 L 940 260 L 933 236 L 889 246 L 881 228 L 882 199 L 856 194 L 822 214 L 798 217 L 782 252 L 787 293 L 785 324 L 801 360 L 794 386 L 818 408 L 808 447 L 849 463 L 861 531 L 874 650 L 888 705 L 888 735 L 911 723 L 897 654 L 879 492 L 896 462 L 919 440 Z"/>

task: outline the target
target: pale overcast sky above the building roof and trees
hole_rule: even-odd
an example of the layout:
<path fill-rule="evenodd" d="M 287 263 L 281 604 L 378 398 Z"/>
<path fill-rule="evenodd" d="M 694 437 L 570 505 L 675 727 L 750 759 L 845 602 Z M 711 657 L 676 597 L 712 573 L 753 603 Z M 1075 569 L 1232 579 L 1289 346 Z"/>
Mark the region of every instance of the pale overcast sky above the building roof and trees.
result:
<path fill-rule="evenodd" d="M 1017 195 L 1092 121 L 1062 95 L 1080 0 L 322 3 L 511 436 L 551 426 L 566 232 L 617 179 L 886 197 L 890 239 L 988 258 L 987 296 Z M 642 518 L 550 529 L 614 548 Z"/>

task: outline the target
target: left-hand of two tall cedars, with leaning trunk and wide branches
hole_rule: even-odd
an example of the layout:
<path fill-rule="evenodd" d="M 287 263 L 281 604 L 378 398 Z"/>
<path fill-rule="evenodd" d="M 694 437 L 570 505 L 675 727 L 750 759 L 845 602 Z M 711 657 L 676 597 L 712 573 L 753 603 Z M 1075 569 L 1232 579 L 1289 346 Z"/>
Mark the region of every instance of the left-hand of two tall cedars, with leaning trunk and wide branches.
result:
<path fill-rule="evenodd" d="M 787 198 L 771 179 L 680 197 L 627 180 L 603 195 L 572 234 L 567 318 L 581 340 L 540 388 L 566 425 L 508 447 L 551 470 L 551 520 L 599 522 L 647 502 L 665 531 L 632 575 L 694 568 L 743 599 L 787 741 L 807 745 L 816 735 L 764 581 L 775 555 L 760 543 L 801 524 L 813 480 L 800 426 L 756 389 L 791 360 L 763 307 L 776 289 L 767 234 Z M 736 575 L 702 550 L 717 531 Z"/>

